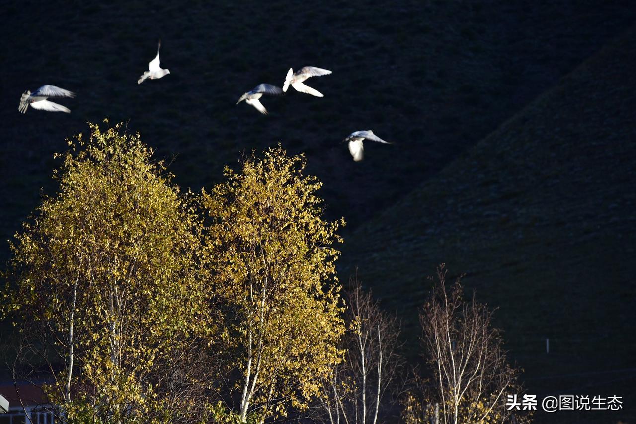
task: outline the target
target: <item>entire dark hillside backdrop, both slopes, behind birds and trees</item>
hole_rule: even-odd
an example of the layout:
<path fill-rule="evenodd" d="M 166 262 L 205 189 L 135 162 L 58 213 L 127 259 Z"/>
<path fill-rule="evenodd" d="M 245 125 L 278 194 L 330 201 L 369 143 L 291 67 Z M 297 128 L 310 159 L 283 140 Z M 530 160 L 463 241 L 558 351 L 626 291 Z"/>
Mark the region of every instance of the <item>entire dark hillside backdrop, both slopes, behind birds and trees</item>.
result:
<path fill-rule="evenodd" d="M 618 414 L 536 422 L 636 422 L 636 6 L 630 1 L 24 1 L 1 6 L 0 258 L 55 189 L 53 152 L 86 122 L 125 121 L 195 191 L 242 152 L 282 143 L 344 216 L 340 279 L 357 272 L 406 325 L 446 262 L 499 308 L 525 385 L 622 395 Z M 171 74 L 137 85 L 162 38 Z M 289 67 L 261 116 L 235 102 Z M 30 108 L 44 84 L 76 92 L 70 115 Z M 55 101 L 55 100 L 54 100 Z M 372 129 L 353 162 L 341 143 Z M 6 336 L 7 325 L 0 327 Z M 550 337 L 551 350 L 545 352 Z"/>

